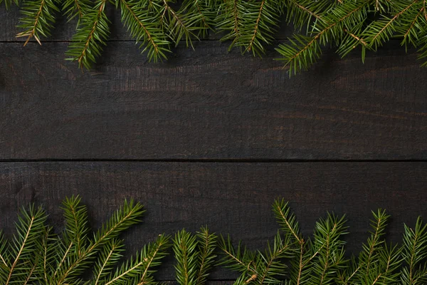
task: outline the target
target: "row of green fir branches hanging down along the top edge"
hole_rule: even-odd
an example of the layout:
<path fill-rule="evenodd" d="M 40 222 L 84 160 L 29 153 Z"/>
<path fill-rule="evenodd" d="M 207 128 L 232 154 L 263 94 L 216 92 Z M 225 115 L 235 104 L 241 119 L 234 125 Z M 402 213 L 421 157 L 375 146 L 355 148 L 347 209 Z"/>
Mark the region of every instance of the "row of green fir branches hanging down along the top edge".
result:
<path fill-rule="evenodd" d="M 9 9 L 19 0 L 0 0 Z M 295 28 L 295 35 L 276 47 L 290 75 L 307 70 L 326 48 L 336 48 L 344 57 L 361 51 L 377 51 L 392 38 L 418 49 L 421 66 L 427 66 L 426 0 L 111 0 L 120 7 L 122 23 L 147 54 L 149 61 L 161 61 L 171 45 L 206 38 L 209 32 L 221 34 L 242 53 L 262 56 L 273 44 L 274 35 L 284 17 Z M 102 53 L 110 34 L 105 14 L 107 0 L 26 0 L 17 34 L 32 38 L 51 33 L 56 13 L 62 9 L 68 20 L 78 18 L 76 32 L 66 53 L 67 60 L 89 69 Z"/>

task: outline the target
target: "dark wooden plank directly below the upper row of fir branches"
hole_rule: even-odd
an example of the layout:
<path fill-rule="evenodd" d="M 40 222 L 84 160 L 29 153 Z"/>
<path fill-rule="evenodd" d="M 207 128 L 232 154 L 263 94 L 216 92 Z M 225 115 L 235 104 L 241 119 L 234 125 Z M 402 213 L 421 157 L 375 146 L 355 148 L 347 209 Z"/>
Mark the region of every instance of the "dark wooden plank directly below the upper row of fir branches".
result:
<path fill-rule="evenodd" d="M 1 160 L 427 159 L 427 69 L 398 44 L 292 78 L 216 42 L 164 63 L 110 43 L 89 72 L 66 47 L 0 43 Z"/>

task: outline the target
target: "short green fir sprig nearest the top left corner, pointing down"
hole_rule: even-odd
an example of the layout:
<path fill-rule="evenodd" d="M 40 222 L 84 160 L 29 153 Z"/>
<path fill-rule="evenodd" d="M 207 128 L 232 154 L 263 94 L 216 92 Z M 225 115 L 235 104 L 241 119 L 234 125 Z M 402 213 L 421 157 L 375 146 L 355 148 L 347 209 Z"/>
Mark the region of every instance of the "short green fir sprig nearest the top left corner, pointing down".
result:
<path fill-rule="evenodd" d="M 6 0 L 8 1 L 8 0 Z M 26 46 L 31 38 L 34 38 L 40 45 L 41 36 L 50 36 L 51 28 L 55 23 L 54 14 L 58 11 L 54 0 L 33 0 L 24 1 L 21 8 L 21 13 L 24 15 L 19 20 L 19 28 L 23 31 L 18 33 L 16 37 L 26 37 L 23 44 Z"/>

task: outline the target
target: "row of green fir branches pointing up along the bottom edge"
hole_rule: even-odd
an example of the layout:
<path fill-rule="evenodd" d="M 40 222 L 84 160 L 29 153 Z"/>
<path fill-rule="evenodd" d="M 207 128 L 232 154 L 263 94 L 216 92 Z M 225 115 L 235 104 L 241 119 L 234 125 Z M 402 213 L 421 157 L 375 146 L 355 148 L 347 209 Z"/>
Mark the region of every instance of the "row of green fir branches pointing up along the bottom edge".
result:
<path fill-rule="evenodd" d="M 86 207 L 80 197 L 64 200 L 65 229 L 53 234 L 41 208 L 22 210 L 16 234 L 10 241 L 0 234 L 0 283 L 4 285 L 85 284 L 157 285 L 154 274 L 168 254 L 169 237 L 160 234 L 137 254 L 118 265 L 124 245 L 119 234 L 140 221 L 142 204 L 132 201 L 117 209 L 97 230 L 88 234 Z M 185 229 L 172 239 L 176 281 L 181 285 L 206 284 L 216 258 L 217 265 L 237 271 L 236 285 L 421 285 L 427 282 L 427 225 L 421 218 L 415 227 L 404 225 L 403 244 L 386 243 L 389 215 L 373 212 L 371 233 L 359 257 L 347 260 L 342 239 L 345 218 L 327 214 L 315 224 L 310 237 L 303 237 L 288 202 L 273 204 L 280 230 L 263 250 L 248 250 L 230 237 L 216 237 L 207 227 L 192 234 Z M 90 269 L 87 280 L 86 270 Z M 86 279 L 85 279 L 86 276 Z"/>

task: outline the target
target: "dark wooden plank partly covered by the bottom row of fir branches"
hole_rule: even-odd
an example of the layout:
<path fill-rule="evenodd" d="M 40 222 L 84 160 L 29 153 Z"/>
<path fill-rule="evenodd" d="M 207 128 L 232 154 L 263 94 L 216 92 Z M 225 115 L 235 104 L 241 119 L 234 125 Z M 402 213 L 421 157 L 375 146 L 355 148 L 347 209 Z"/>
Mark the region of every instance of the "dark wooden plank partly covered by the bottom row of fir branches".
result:
<path fill-rule="evenodd" d="M 371 209 L 392 215 L 389 238 L 396 241 L 403 223 L 426 217 L 427 162 L 3 162 L 0 163 L 0 228 L 11 234 L 16 211 L 43 204 L 62 225 L 60 201 L 80 194 L 94 227 L 125 198 L 147 206 L 144 222 L 126 234 L 134 252 L 161 232 L 183 227 L 211 230 L 243 239 L 252 249 L 265 246 L 277 229 L 273 199 L 291 202 L 309 234 L 327 210 L 347 213 L 349 251 L 367 238 Z M 173 279 L 172 262 L 162 279 Z M 214 279 L 233 274 L 217 271 Z"/>

